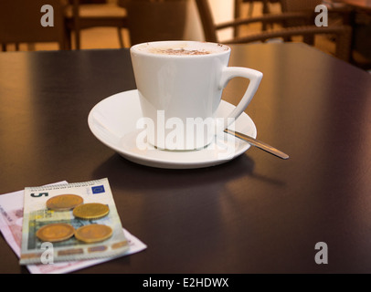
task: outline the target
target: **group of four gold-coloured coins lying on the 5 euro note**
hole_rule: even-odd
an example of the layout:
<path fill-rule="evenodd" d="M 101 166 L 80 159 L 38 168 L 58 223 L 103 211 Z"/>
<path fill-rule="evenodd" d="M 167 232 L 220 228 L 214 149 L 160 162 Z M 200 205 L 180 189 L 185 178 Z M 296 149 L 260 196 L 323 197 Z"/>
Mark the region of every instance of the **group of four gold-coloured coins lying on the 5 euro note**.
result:
<path fill-rule="evenodd" d="M 76 194 L 60 194 L 47 201 L 47 207 L 56 212 L 72 211 L 80 219 L 100 219 L 110 213 L 110 208 L 103 203 L 83 203 L 84 200 Z M 111 237 L 112 229 L 103 224 L 84 225 L 75 230 L 70 224 L 47 224 L 37 230 L 37 238 L 44 242 L 60 242 L 73 235 L 80 241 L 92 244 Z"/>

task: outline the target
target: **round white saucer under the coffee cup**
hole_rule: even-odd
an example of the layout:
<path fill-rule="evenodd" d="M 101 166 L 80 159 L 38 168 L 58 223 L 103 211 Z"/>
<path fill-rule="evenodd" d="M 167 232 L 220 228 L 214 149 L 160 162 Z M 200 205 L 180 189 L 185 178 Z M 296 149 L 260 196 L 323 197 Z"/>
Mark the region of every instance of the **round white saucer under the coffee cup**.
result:
<path fill-rule="evenodd" d="M 222 100 L 217 117 L 227 117 L 235 106 Z M 140 150 L 136 146 L 136 121 L 142 118 L 138 91 L 117 93 L 101 100 L 90 110 L 88 123 L 95 137 L 117 151 L 124 158 L 139 164 L 169 169 L 201 168 L 228 162 L 247 151 L 249 143 L 229 134 L 220 134 L 216 141 L 196 151 L 162 151 L 148 147 Z M 256 138 L 254 122 L 242 113 L 229 129 L 237 130 Z"/>

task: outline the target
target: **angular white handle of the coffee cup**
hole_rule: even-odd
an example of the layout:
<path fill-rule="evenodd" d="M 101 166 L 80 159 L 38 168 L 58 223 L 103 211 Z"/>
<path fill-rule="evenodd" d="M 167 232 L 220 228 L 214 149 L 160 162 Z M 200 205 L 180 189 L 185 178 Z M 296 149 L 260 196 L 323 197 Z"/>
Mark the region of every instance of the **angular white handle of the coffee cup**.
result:
<path fill-rule="evenodd" d="M 249 102 L 259 88 L 263 74 L 260 71 L 250 68 L 226 67 L 222 71 L 219 89 L 224 89 L 227 86 L 228 81 L 236 77 L 248 78 L 249 87 L 246 89 L 244 96 L 239 101 L 238 106 L 229 114 L 227 119 L 224 119 L 223 130 L 228 128 L 228 126 L 232 124 L 234 120 L 236 120 L 239 115 L 248 107 Z"/>

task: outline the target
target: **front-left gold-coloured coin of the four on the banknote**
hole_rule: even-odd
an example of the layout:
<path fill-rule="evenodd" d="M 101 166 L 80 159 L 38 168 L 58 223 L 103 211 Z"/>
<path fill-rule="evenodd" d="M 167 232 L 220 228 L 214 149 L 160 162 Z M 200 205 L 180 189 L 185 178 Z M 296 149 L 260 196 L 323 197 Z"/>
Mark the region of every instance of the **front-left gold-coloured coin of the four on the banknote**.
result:
<path fill-rule="evenodd" d="M 75 228 L 70 224 L 56 223 L 44 225 L 37 230 L 37 237 L 42 241 L 55 243 L 69 239 L 74 235 Z"/>

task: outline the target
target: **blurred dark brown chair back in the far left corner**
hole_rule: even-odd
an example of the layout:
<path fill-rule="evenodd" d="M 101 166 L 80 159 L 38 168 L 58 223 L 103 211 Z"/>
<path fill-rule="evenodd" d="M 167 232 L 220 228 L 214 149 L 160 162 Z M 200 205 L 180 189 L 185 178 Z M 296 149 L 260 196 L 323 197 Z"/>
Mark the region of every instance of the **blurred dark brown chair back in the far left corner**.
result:
<path fill-rule="evenodd" d="M 44 5 L 52 10 L 41 11 Z M 44 6 L 44 7 L 50 7 Z M 41 18 L 47 13 L 53 15 L 42 26 Z M 6 51 L 7 44 L 58 43 L 60 49 L 67 48 L 67 34 L 63 23 L 62 5 L 59 0 L 11 0 L 0 1 L 0 44 Z"/>

